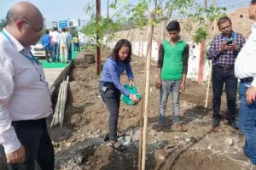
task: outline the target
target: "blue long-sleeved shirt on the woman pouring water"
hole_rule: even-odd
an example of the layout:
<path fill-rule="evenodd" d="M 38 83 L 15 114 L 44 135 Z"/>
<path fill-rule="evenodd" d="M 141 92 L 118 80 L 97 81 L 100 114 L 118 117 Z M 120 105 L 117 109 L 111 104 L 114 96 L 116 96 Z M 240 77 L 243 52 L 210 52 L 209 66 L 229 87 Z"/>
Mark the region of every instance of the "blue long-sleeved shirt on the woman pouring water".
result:
<path fill-rule="evenodd" d="M 129 92 L 120 83 L 120 75 L 124 71 L 126 71 L 129 81 L 133 80 L 130 62 L 115 61 L 112 57 L 109 57 L 103 66 L 101 81 L 113 82 L 113 85 L 118 88 L 122 94 L 129 96 Z"/>

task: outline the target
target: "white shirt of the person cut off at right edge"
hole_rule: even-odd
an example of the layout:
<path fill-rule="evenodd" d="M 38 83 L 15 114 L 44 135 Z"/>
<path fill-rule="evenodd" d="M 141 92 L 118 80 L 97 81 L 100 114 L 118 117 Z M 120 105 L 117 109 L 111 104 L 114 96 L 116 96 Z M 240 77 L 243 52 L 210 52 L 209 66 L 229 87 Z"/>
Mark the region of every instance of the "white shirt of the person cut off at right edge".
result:
<path fill-rule="evenodd" d="M 239 79 L 253 77 L 251 86 L 256 88 L 256 23 L 253 24 L 252 34 L 236 58 L 235 75 Z"/>

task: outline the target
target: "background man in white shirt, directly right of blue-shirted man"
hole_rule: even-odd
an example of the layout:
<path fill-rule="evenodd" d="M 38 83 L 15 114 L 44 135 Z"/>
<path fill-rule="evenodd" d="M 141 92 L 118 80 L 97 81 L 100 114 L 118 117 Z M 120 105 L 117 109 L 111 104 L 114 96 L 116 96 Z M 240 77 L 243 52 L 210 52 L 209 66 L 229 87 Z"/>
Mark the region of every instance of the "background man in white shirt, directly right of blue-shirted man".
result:
<path fill-rule="evenodd" d="M 60 39 L 60 33 L 58 31 L 58 28 L 54 27 L 54 31 L 50 34 L 52 37 L 52 54 L 53 58 L 55 61 L 61 61 L 60 60 L 60 44 L 59 44 L 59 39 Z"/>

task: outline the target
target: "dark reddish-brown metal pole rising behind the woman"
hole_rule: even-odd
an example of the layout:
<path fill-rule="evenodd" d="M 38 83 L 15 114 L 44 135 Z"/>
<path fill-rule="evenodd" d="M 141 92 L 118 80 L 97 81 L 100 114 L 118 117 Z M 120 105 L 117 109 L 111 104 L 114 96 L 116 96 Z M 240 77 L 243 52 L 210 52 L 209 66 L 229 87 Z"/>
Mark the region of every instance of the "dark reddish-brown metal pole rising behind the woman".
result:
<path fill-rule="evenodd" d="M 101 20 L 101 0 L 96 0 L 96 17 L 97 17 L 97 21 L 100 22 Z M 99 76 L 101 74 L 101 61 L 102 61 L 102 57 L 101 57 L 101 44 L 100 44 L 100 37 L 99 37 L 99 31 L 100 31 L 100 26 L 98 25 L 97 28 L 97 35 L 96 35 L 96 42 L 97 42 L 97 76 Z"/>

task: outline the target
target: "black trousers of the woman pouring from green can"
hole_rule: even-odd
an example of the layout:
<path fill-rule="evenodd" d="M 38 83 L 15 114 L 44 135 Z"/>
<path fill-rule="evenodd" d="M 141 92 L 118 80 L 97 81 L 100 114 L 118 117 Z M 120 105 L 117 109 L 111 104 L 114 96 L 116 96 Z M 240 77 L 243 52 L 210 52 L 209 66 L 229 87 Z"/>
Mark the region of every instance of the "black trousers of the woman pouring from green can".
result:
<path fill-rule="evenodd" d="M 107 83 L 108 84 L 108 83 Z M 117 139 L 117 125 L 119 120 L 119 107 L 121 93 L 118 88 L 108 86 L 104 82 L 100 82 L 100 94 L 103 102 L 107 105 L 109 111 L 109 140 Z M 106 87 L 106 90 L 102 90 Z"/>

